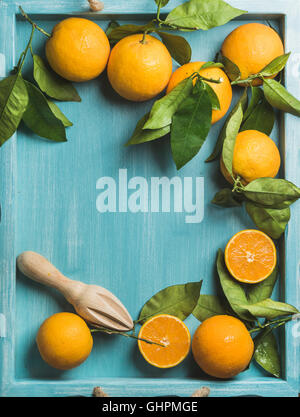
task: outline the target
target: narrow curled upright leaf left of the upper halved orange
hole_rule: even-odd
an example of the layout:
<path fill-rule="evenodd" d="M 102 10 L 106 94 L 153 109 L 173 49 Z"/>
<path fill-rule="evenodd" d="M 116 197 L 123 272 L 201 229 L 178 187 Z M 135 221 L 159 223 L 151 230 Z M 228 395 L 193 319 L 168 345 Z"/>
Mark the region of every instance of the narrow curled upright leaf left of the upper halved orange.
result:
<path fill-rule="evenodd" d="M 221 287 L 232 310 L 243 320 L 255 321 L 255 318 L 247 309 L 248 300 L 246 293 L 242 285 L 229 274 L 225 265 L 224 254 L 221 249 L 218 251 L 217 270 Z"/>

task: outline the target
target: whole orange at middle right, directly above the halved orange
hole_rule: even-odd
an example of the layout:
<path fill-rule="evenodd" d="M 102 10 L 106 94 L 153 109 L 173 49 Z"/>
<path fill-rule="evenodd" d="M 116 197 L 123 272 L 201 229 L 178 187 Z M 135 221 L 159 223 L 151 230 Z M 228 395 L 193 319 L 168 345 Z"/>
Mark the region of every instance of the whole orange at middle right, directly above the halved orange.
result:
<path fill-rule="evenodd" d="M 280 168 L 280 153 L 275 142 L 258 130 L 240 132 L 235 141 L 232 170 L 244 184 L 265 177 L 276 177 Z M 224 177 L 233 182 L 223 160 L 220 169 Z"/>

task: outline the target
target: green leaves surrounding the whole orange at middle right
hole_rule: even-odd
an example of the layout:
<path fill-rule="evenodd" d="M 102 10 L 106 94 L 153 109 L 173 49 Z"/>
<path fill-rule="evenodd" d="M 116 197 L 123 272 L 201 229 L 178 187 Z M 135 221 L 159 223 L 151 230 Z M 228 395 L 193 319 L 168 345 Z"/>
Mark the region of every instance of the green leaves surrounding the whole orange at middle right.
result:
<path fill-rule="evenodd" d="M 221 155 L 234 183 L 232 190 L 218 191 L 212 203 L 221 207 L 244 203 L 254 224 L 273 239 L 279 239 L 290 219 L 290 205 L 300 198 L 300 189 L 290 181 L 277 178 L 258 178 L 244 186 L 243 179 L 234 176 L 232 158 L 238 132 L 259 130 L 269 135 L 275 120 L 273 108 L 261 88 L 251 86 L 249 105 L 247 97 L 245 87 L 221 129 L 212 154 L 206 159 L 211 162 Z"/>

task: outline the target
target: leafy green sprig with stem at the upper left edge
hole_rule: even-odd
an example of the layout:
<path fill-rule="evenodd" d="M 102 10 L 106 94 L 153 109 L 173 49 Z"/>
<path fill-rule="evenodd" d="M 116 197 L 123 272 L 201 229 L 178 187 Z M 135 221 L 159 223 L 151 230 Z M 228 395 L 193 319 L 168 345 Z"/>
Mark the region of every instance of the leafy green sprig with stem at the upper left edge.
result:
<path fill-rule="evenodd" d="M 22 120 L 38 136 L 55 142 L 66 141 L 65 128 L 72 126 L 72 122 L 51 99 L 81 101 L 73 85 L 55 74 L 40 56 L 33 53 L 31 44 L 37 26 L 31 24 L 29 42 L 14 73 L 0 81 L 0 146 L 16 132 Z M 29 50 L 33 59 L 35 84 L 22 77 Z"/>

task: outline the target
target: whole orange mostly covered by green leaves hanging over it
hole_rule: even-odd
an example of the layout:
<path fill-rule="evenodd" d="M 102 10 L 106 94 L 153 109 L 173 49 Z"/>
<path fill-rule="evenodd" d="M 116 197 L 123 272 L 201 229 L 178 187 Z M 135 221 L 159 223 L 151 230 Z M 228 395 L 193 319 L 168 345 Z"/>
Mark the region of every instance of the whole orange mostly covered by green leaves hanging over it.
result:
<path fill-rule="evenodd" d="M 172 91 L 177 84 L 179 84 L 185 78 L 191 76 L 194 72 L 198 72 L 205 78 L 214 80 L 220 79 L 221 82 L 219 84 L 210 82 L 207 83 L 214 90 L 220 102 L 220 110 L 212 111 L 211 122 L 214 124 L 227 113 L 227 110 L 231 104 L 232 88 L 230 81 L 224 71 L 222 71 L 220 68 L 214 67 L 204 68 L 203 70 L 199 71 L 203 64 L 205 64 L 205 62 L 189 62 L 188 64 L 184 64 L 177 68 L 177 70 L 173 72 L 169 81 L 167 94 Z"/>

